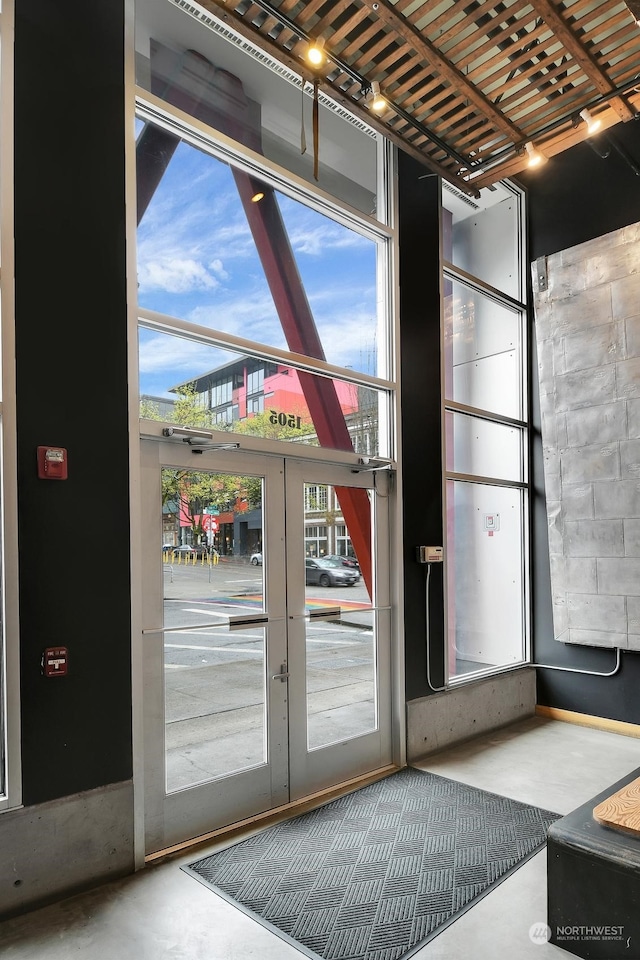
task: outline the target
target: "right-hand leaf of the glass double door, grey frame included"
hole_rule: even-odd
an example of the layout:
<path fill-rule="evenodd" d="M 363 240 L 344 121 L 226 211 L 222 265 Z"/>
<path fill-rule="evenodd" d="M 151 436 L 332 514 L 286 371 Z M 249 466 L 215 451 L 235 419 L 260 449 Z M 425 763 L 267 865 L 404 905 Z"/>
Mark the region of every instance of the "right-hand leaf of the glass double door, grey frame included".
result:
<path fill-rule="evenodd" d="M 286 464 L 292 800 L 390 762 L 387 484 Z"/>

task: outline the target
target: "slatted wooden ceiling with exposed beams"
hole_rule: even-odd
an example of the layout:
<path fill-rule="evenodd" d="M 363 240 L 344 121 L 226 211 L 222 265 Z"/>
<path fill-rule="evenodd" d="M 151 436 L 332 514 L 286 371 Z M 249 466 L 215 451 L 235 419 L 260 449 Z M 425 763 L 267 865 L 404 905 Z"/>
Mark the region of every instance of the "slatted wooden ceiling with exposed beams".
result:
<path fill-rule="evenodd" d="M 584 139 L 584 106 L 609 124 L 635 114 L 637 95 L 616 89 L 638 74 L 640 33 L 619 0 L 252 0 L 242 15 L 242 0 L 199 2 L 307 81 L 293 40 L 323 36 L 327 94 L 469 193 L 522 169 L 525 140 Z M 359 77 L 379 81 L 382 117 Z M 495 166 L 461 176 L 478 155 Z"/>

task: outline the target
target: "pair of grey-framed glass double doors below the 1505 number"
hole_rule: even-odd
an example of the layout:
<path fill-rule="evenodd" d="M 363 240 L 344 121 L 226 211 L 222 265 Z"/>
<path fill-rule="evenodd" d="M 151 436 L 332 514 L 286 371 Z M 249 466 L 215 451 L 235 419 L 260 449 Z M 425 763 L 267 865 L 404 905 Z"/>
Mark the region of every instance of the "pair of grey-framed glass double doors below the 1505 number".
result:
<path fill-rule="evenodd" d="M 391 615 L 384 472 L 156 440 L 141 466 L 150 854 L 388 765 Z"/>

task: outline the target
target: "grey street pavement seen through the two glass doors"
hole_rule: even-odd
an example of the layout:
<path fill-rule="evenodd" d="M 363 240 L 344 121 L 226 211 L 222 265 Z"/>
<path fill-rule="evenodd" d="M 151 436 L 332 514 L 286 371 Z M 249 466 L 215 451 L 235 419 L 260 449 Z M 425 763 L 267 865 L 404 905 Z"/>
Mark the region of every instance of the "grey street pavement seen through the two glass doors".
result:
<path fill-rule="evenodd" d="M 304 675 L 269 684 L 266 624 L 229 627 L 263 611 L 263 568 L 221 560 L 164 564 L 165 739 L 168 789 L 265 761 L 269 697 L 291 683 L 305 692 L 309 749 L 357 736 L 376 722 L 374 614 L 360 580 L 306 587 L 307 611 L 340 607 L 330 619 L 298 620 Z"/>

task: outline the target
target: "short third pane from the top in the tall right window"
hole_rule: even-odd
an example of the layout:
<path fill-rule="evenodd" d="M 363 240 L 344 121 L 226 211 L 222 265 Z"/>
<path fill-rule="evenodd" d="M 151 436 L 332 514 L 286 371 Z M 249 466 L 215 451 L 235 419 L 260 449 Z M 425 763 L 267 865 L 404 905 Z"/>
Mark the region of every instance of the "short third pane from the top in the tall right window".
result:
<path fill-rule="evenodd" d="M 524 436 L 519 427 L 447 411 L 445 429 L 447 470 L 524 481 Z"/>

